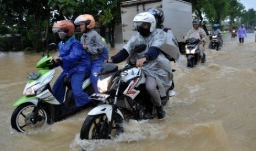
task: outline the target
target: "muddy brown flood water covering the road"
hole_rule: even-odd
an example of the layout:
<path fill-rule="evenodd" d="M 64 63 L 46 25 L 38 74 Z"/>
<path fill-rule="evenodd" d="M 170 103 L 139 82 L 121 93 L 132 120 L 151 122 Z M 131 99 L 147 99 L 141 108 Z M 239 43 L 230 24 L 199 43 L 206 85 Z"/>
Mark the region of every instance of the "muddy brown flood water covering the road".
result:
<path fill-rule="evenodd" d="M 130 120 L 113 140 L 80 140 L 90 109 L 29 135 L 13 130 L 10 106 L 23 96 L 26 77 L 37 71 L 41 56 L 0 52 L 0 150 L 256 150 L 254 40 L 248 33 L 239 44 L 238 38 L 225 34 L 220 51 L 206 48 L 204 65 L 187 68 L 186 57 L 172 62 L 176 96 L 164 107 L 166 120 Z M 110 54 L 121 48 L 117 45 Z M 52 84 L 60 72 L 57 68 Z"/>

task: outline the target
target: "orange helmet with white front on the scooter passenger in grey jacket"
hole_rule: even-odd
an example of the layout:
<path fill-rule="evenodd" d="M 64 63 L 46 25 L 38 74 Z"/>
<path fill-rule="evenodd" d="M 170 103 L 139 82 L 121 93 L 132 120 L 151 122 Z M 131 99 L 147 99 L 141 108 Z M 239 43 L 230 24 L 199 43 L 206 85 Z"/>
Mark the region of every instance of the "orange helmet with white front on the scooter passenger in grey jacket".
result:
<path fill-rule="evenodd" d="M 77 19 L 75 19 L 74 24 L 75 25 L 85 24 L 87 25 L 86 28 L 91 29 L 91 28 L 94 28 L 95 26 L 95 20 L 92 15 L 84 14 L 84 15 L 79 15 Z"/>

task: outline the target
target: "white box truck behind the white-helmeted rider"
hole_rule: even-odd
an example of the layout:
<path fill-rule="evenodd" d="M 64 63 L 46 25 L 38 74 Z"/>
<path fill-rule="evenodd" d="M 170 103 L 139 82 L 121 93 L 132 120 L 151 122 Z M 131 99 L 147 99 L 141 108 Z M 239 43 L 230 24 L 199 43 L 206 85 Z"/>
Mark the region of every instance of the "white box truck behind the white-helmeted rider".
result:
<path fill-rule="evenodd" d="M 133 18 L 149 8 L 161 8 L 164 11 L 164 26 L 171 28 L 179 42 L 181 36 L 192 28 L 192 4 L 181 0 L 133 0 L 121 3 L 123 42 L 126 43 L 135 34 Z M 180 48 L 181 50 L 181 48 Z"/>

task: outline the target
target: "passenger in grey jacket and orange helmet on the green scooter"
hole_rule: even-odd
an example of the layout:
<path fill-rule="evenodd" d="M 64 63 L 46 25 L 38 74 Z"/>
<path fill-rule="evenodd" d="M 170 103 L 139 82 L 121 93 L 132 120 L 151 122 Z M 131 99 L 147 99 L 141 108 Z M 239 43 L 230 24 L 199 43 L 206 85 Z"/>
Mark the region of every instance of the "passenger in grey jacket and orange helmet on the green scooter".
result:
<path fill-rule="evenodd" d="M 94 76 L 95 73 L 100 73 L 101 67 L 108 59 L 108 50 L 105 39 L 100 36 L 94 30 L 95 20 L 90 14 L 79 15 L 74 21 L 75 25 L 80 25 L 80 31 L 83 32 L 83 36 L 80 38 L 80 42 L 83 44 L 83 48 L 91 57 L 91 74 L 90 79 L 95 92 L 97 89 L 98 76 Z"/>

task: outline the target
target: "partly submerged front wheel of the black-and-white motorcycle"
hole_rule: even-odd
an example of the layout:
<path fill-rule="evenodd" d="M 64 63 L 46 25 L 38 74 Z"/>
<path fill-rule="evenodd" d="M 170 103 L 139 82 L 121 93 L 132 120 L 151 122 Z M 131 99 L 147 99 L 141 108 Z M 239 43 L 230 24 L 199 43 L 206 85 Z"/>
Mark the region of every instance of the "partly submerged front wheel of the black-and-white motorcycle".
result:
<path fill-rule="evenodd" d="M 108 121 L 106 114 L 88 115 L 81 127 L 80 138 L 81 140 L 111 139 L 111 137 L 118 136 L 123 132 L 122 122 L 122 117 L 117 114 L 112 124 L 112 130 L 108 134 L 110 121 Z"/>

